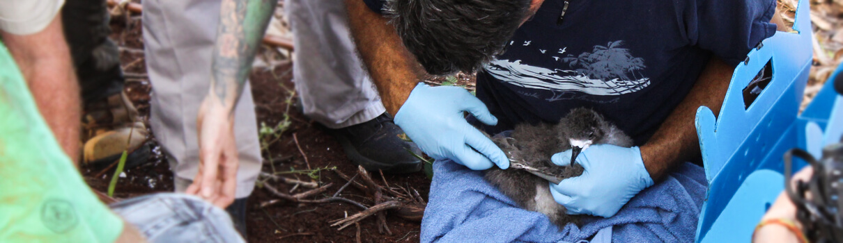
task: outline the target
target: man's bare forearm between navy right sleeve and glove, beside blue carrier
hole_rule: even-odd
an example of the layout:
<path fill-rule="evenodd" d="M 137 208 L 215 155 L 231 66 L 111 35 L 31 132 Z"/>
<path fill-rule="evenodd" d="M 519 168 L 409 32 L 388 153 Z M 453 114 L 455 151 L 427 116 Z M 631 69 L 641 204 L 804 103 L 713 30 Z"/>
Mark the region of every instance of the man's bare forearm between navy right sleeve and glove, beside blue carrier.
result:
<path fill-rule="evenodd" d="M 663 177 L 679 162 L 689 161 L 700 154 L 694 125 L 696 109 L 704 105 L 714 114 L 720 113 L 733 71 L 733 66 L 711 57 L 688 96 L 668 115 L 647 144 L 642 145 L 642 159 L 652 180 Z"/>

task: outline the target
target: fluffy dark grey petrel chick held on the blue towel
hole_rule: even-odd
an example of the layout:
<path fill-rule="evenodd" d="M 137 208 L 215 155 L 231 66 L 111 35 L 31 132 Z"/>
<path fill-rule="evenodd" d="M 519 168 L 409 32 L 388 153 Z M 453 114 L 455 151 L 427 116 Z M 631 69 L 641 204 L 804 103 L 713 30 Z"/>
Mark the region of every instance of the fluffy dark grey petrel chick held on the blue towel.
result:
<path fill-rule="evenodd" d="M 572 161 L 589 145 L 610 144 L 631 147 L 632 139 L 589 108 L 572 109 L 559 124 L 518 124 L 512 134 L 491 138 L 507 154 L 513 164 L 521 164 L 550 175 L 569 178 L 583 174 L 583 166 L 556 166 L 550 157 L 572 150 Z M 514 167 L 514 166 L 513 166 Z M 607 178 L 609 179 L 609 178 Z M 579 222 L 550 194 L 548 181 L 526 170 L 493 168 L 486 172 L 486 181 L 496 186 L 521 208 L 547 215 L 560 229 Z"/>

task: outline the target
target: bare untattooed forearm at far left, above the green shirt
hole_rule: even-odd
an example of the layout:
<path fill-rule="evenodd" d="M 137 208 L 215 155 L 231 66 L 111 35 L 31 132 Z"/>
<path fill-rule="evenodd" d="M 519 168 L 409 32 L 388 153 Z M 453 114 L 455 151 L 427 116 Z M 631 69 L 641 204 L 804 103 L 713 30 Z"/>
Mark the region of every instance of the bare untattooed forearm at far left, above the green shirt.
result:
<path fill-rule="evenodd" d="M 0 35 L 24 74 L 41 116 L 67 156 L 77 163 L 82 103 L 70 50 L 62 33 L 61 15 L 56 15 L 45 29 L 35 34 L 0 31 Z"/>

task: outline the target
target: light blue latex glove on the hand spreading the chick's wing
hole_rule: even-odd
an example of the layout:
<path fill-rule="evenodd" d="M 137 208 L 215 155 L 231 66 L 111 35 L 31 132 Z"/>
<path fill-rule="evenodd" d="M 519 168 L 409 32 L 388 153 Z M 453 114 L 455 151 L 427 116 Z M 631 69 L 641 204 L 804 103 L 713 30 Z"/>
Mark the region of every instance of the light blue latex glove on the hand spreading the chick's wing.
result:
<path fill-rule="evenodd" d="M 430 87 L 424 83 L 413 88 L 394 121 L 421 151 L 434 159 L 448 158 L 472 170 L 486 170 L 493 165 L 508 168 L 506 154 L 466 122 L 463 112 L 484 124 L 497 124 L 486 105 L 464 88 Z"/>

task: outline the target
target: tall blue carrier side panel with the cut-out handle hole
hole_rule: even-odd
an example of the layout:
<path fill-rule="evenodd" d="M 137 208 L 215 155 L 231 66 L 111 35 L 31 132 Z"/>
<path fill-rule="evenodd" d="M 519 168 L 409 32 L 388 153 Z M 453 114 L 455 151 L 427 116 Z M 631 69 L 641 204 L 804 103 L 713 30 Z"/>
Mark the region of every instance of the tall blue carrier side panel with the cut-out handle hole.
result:
<path fill-rule="evenodd" d="M 709 188 L 696 241 L 705 237 L 752 172 L 765 167 L 781 172 L 776 161 L 781 161 L 783 150 L 796 145 L 792 124 L 797 119 L 813 55 L 809 13 L 808 1 L 799 1 L 793 26 L 798 33 L 776 32 L 763 40 L 760 48 L 749 52 L 748 61 L 735 68 L 717 118 L 710 108 L 697 109 L 695 125 Z M 744 87 L 768 61 L 773 69 L 771 82 L 749 108 L 744 108 Z M 768 156 L 776 153 L 778 156 Z"/>

